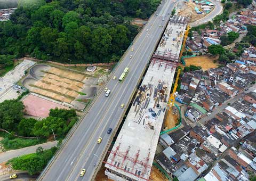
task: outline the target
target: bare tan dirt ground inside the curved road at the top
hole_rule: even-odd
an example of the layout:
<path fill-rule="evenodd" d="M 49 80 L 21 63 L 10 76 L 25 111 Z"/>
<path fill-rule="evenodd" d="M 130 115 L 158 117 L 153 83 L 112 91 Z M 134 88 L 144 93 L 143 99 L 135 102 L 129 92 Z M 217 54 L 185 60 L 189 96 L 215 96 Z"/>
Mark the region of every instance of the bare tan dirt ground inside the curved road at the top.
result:
<path fill-rule="evenodd" d="M 177 5 L 177 13 L 178 15 L 182 15 L 184 17 L 191 15 L 191 20 L 190 22 L 194 22 L 196 20 L 199 20 L 203 17 L 205 17 L 206 13 L 203 14 L 197 14 L 195 10 L 196 4 L 193 2 L 180 2 Z M 200 6 L 197 6 L 198 8 Z"/>

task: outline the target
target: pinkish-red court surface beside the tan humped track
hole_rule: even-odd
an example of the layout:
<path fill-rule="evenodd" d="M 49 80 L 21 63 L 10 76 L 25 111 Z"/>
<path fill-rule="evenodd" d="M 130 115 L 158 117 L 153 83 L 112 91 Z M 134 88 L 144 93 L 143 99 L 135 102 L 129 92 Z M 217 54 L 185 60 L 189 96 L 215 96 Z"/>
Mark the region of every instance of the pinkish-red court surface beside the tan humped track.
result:
<path fill-rule="evenodd" d="M 28 115 L 43 118 L 49 116 L 50 109 L 68 109 L 66 106 L 31 94 L 23 99 L 23 104 Z"/>

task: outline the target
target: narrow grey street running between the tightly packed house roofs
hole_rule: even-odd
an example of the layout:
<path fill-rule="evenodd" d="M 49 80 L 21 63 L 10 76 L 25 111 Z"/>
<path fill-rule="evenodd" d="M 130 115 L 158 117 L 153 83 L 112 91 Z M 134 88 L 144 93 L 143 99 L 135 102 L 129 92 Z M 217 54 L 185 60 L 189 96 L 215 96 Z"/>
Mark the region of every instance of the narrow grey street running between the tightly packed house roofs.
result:
<path fill-rule="evenodd" d="M 242 98 L 246 93 L 249 93 L 249 92 L 251 92 L 251 91 L 254 91 L 255 89 L 256 89 L 256 84 L 254 84 L 252 87 L 250 87 L 250 88 L 248 89 L 248 91 L 244 91 L 243 93 L 240 93 L 240 94 L 236 95 L 235 97 L 232 97 L 232 98 L 230 98 L 229 100 L 227 100 L 226 102 L 222 103 L 221 106 L 219 106 L 219 107 L 217 107 L 217 108 L 214 109 L 214 111 L 211 113 L 210 116 L 205 116 L 205 117 L 203 117 L 202 119 L 199 120 L 199 122 L 200 122 L 201 124 L 203 124 L 203 125 L 206 124 L 209 120 L 213 119 L 217 113 L 223 112 L 223 110 L 224 110 L 225 108 L 227 108 L 228 103 L 233 104 L 234 102 L 236 102 L 237 100 L 239 100 L 239 98 Z"/>

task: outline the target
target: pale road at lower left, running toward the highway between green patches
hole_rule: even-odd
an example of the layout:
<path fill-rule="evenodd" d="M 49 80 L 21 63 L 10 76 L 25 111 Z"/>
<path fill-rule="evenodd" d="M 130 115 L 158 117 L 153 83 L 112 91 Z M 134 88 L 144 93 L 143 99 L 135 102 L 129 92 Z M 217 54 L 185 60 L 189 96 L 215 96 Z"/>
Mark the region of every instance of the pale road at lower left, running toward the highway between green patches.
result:
<path fill-rule="evenodd" d="M 24 154 L 35 153 L 37 147 L 39 147 L 39 146 L 42 146 L 43 149 L 47 150 L 47 149 L 51 149 L 51 147 L 56 146 L 56 145 L 57 145 L 57 142 L 54 141 L 54 142 L 47 142 L 47 143 L 43 143 L 43 144 L 39 144 L 39 145 L 35 145 L 35 146 L 24 147 L 23 149 L 3 152 L 3 153 L 0 153 L 0 163 L 2 163 L 4 161 L 8 161 L 15 157 L 19 157 Z"/>

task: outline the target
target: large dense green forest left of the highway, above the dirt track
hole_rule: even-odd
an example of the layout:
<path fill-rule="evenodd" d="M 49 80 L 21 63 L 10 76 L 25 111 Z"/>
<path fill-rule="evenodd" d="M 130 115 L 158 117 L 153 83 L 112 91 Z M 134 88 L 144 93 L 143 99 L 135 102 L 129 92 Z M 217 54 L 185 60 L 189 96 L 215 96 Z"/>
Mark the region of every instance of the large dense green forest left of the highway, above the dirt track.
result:
<path fill-rule="evenodd" d="M 118 61 L 159 0 L 19 0 L 0 22 L 0 55 L 67 62 Z M 68 61 L 69 62 L 69 61 Z"/>

